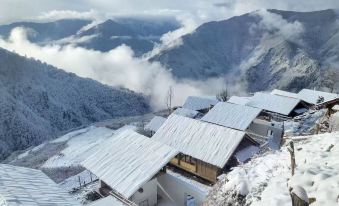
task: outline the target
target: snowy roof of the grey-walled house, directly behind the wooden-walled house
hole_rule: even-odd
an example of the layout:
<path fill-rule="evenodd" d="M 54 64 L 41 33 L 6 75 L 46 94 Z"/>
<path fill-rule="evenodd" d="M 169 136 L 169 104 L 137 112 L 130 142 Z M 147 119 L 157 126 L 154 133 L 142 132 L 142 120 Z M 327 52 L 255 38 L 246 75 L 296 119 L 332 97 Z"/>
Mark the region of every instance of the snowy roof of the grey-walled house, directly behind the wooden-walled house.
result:
<path fill-rule="evenodd" d="M 254 107 L 219 102 L 201 120 L 244 131 L 261 111 Z"/>

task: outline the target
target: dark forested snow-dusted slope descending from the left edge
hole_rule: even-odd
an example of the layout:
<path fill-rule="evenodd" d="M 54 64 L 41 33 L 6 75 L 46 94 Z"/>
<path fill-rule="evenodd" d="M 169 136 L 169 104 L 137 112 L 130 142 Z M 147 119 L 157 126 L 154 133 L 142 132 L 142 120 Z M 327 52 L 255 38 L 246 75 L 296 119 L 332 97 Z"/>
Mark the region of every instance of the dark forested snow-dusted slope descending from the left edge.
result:
<path fill-rule="evenodd" d="M 150 111 L 132 91 L 0 49 L 0 159 L 82 125 Z"/>

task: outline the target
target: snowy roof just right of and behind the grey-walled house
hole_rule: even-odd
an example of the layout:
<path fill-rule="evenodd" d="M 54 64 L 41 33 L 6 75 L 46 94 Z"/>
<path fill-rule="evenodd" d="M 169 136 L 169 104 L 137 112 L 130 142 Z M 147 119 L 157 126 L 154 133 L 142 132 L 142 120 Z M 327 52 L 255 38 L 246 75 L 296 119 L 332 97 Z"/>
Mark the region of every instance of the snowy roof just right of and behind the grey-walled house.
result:
<path fill-rule="evenodd" d="M 299 99 L 257 92 L 246 105 L 270 112 L 289 115 L 299 102 Z"/>

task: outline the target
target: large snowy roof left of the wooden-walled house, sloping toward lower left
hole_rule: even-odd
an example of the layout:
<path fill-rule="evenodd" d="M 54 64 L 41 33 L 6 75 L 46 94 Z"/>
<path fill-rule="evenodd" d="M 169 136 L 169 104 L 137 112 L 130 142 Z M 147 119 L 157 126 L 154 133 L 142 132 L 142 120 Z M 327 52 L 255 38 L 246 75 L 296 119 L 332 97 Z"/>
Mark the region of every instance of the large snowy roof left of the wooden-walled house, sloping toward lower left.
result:
<path fill-rule="evenodd" d="M 125 130 L 103 142 L 82 165 L 130 198 L 177 154 L 172 147 Z"/>

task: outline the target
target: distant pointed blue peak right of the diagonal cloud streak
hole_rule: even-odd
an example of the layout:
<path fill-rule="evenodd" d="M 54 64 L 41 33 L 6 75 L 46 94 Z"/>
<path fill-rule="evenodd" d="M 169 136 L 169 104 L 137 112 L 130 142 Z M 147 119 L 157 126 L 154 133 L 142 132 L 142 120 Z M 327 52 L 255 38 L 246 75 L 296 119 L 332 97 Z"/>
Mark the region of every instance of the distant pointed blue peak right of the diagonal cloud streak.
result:
<path fill-rule="evenodd" d="M 151 51 L 163 34 L 177 28 L 179 23 L 173 19 L 119 18 L 89 28 L 77 37 L 91 37 L 89 41 L 79 44 L 86 48 L 109 51 L 125 44 L 140 56 Z"/>

